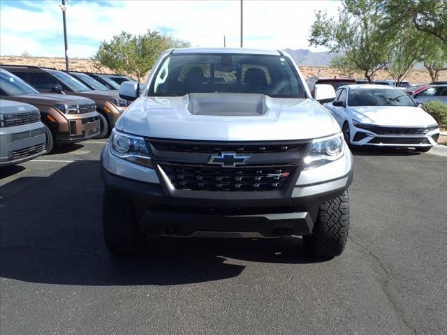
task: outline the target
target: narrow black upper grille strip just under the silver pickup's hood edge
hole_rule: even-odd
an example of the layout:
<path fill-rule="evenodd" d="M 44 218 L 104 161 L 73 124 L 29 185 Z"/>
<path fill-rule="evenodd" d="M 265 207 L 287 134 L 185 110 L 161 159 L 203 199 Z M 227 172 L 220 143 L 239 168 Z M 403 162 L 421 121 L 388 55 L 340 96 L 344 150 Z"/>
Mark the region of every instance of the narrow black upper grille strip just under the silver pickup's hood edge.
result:
<path fill-rule="evenodd" d="M 197 152 L 197 153 L 219 153 L 236 152 L 246 154 L 268 153 L 268 152 L 286 152 L 302 151 L 307 147 L 307 143 L 284 143 L 284 142 L 265 142 L 263 144 L 252 144 L 247 142 L 222 143 L 222 142 L 193 142 L 193 141 L 175 141 L 175 140 L 150 140 L 150 143 L 156 150 L 161 151 L 179 151 L 179 152 Z"/>

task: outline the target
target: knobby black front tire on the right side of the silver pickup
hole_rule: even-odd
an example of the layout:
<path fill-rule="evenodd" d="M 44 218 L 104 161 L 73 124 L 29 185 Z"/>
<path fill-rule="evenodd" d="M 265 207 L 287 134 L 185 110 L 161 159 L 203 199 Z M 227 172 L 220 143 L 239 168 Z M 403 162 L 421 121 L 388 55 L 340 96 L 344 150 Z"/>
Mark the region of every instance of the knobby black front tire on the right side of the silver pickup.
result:
<path fill-rule="evenodd" d="M 333 258 L 341 255 L 349 230 L 349 196 L 345 192 L 323 202 L 312 234 L 303 236 L 307 252 L 315 257 Z"/>

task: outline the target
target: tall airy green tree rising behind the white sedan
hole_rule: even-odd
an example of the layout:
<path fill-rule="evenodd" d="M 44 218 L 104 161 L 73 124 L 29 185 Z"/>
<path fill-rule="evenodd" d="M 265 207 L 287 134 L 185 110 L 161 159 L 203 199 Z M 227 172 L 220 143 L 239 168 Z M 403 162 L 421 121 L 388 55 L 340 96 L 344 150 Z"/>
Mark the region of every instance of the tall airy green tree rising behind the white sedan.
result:
<path fill-rule="evenodd" d="M 321 11 L 311 27 L 310 45 L 344 52 L 346 61 L 372 82 L 388 64 L 391 35 L 381 27 L 383 3 L 379 0 L 344 0 L 337 18 Z"/>

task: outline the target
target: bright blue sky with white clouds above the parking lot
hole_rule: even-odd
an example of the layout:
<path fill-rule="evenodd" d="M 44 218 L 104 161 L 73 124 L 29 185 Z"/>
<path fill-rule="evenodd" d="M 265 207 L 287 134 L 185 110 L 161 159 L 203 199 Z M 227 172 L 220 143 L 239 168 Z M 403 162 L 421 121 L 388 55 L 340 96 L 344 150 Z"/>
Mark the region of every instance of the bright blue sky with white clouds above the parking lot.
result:
<path fill-rule="evenodd" d="M 0 53 L 63 57 L 62 13 L 57 0 L 1 0 Z M 70 57 L 91 57 L 101 40 L 120 31 L 159 30 L 200 47 L 239 47 L 240 1 L 67 2 Z M 339 1 L 244 0 L 244 47 L 314 49 L 307 38 L 315 10 L 337 13 Z"/>

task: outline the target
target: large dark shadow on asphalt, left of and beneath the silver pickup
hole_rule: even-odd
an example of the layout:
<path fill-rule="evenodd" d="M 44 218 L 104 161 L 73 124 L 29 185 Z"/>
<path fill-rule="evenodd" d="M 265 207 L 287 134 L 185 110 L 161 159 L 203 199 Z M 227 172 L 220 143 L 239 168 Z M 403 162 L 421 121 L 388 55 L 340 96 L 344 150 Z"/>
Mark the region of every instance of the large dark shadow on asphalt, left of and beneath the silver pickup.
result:
<path fill-rule="evenodd" d="M 12 192 L 21 179 L 38 179 Z M 11 188 L 11 189 L 9 189 Z M 116 259 L 103 242 L 97 161 L 49 177 L 22 177 L 1 199 L 0 274 L 66 285 L 177 285 L 238 276 L 250 262 L 307 263 L 301 239 L 157 239 L 138 259 Z"/>

